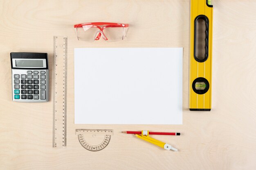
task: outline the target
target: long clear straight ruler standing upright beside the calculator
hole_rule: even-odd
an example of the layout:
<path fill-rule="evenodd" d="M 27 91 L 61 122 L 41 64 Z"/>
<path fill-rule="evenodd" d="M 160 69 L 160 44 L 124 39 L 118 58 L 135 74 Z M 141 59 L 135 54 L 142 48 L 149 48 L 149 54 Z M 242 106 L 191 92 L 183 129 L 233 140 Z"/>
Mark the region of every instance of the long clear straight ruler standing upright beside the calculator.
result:
<path fill-rule="evenodd" d="M 54 36 L 53 147 L 66 147 L 67 37 Z"/>

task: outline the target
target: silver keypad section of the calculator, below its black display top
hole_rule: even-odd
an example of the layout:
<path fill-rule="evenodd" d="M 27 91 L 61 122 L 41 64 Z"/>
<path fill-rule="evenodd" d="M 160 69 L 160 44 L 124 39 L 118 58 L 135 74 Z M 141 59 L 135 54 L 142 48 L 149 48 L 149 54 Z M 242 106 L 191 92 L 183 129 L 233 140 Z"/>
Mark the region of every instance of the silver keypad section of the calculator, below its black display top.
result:
<path fill-rule="evenodd" d="M 48 101 L 48 70 L 13 70 L 13 72 L 15 72 L 13 73 L 13 100 L 21 102 Z"/>

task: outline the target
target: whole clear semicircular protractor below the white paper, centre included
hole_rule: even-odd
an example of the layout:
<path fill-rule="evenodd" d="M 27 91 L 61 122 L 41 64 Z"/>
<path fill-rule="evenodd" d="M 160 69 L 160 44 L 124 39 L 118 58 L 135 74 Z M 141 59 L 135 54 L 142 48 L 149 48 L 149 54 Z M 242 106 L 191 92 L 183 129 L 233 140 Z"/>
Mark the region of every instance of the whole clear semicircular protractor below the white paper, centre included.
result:
<path fill-rule="evenodd" d="M 79 142 L 85 149 L 90 151 L 99 151 L 108 146 L 111 135 L 113 135 L 113 130 L 76 129 L 76 135 L 78 135 Z"/>

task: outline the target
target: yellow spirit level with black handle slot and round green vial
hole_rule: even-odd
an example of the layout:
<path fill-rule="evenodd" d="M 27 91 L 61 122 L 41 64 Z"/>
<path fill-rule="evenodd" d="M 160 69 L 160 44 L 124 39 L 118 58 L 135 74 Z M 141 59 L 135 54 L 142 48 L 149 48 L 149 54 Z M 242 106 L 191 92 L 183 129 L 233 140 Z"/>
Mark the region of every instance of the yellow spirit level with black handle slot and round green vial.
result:
<path fill-rule="evenodd" d="M 189 110 L 210 111 L 213 23 L 211 0 L 191 0 L 190 15 Z"/>

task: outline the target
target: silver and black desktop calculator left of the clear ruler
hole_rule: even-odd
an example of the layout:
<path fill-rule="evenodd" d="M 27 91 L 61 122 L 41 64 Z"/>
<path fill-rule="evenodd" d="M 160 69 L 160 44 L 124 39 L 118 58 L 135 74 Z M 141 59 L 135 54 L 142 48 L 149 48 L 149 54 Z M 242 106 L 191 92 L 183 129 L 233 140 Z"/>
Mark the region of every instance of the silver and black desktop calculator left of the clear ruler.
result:
<path fill-rule="evenodd" d="M 12 100 L 47 102 L 49 72 L 47 53 L 11 52 Z"/>

